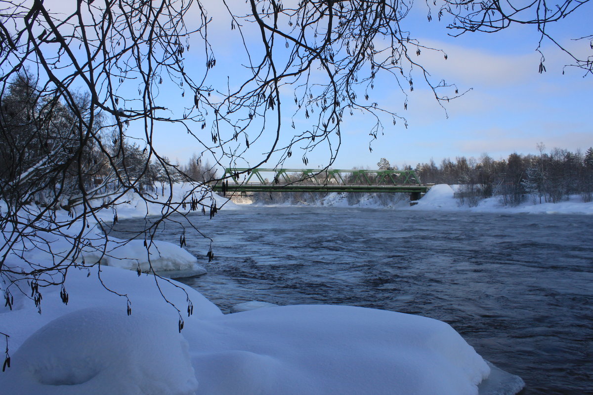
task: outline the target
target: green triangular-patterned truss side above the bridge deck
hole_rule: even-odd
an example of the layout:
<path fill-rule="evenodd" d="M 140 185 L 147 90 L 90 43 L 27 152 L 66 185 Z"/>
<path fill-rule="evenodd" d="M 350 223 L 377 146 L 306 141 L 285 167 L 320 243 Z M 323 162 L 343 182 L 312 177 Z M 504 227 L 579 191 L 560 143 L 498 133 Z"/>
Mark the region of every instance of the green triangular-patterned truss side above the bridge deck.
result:
<path fill-rule="evenodd" d="M 413 170 L 225 168 L 224 178 L 235 185 L 422 185 Z"/>

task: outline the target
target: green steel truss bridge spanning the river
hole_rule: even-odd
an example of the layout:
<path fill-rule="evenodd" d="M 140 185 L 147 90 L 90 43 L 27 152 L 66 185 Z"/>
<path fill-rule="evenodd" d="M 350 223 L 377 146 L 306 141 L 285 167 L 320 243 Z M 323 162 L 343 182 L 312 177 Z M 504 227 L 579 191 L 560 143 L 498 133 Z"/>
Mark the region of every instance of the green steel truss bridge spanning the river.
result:
<path fill-rule="evenodd" d="M 429 187 L 413 170 L 227 168 L 211 185 L 223 192 L 402 192 L 417 200 Z"/>

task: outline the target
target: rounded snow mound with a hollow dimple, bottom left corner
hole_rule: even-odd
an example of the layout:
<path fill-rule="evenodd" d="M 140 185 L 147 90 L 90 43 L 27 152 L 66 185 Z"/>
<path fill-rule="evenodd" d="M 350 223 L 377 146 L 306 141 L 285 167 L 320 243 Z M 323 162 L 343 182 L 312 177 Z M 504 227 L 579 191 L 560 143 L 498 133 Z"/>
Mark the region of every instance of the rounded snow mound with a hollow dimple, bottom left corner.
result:
<path fill-rule="evenodd" d="M 170 320 L 90 308 L 66 314 L 14 354 L 2 391 L 12 394 L 190 395 L 187 341 Z"/>

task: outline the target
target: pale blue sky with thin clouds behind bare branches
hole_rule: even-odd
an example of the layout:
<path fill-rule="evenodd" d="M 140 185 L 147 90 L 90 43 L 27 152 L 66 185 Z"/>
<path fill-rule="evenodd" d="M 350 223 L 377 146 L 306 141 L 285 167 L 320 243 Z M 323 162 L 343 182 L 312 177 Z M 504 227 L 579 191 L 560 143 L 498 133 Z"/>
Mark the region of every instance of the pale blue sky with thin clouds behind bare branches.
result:
<path fill-rule="evenodd" d="M 244 7 L 240 0 L 231 0 L 229 4 Z M 241 66 L 245 62 L 241 57 L 244 51 L 240 43 L 229 36 L 229 20 L 222 5 L 209 2 L 207 8 L 212 17 L 209 38 L 217 60 L 212 75 L 218 82 L 226 81 L 228 76 L 232 86 L 233 78 L 240 77 L 244 70 Z M 593 76 L 584 78 L 584 72 L 574 68 L 565 69 L 563 75 L 563 66 L 570 63 L 570 59 L 547 41 L 543 43 L 547 71 L 538 73 L 540 54 L 535 51 L 538 36 L 534 26 L 518 25 L 493 34 L 468 33 L 450 37 L 448 33 L 451 31 L 446 28 L 448 20 L 439 22 L 434 18 L 429 22 L 427 9 L 426 4 L 415 3 L 403 21 L 402 29 L 409 30 L 426 46 L 444 50 L 448 57 L 445 60 L 442 53 L 423 51 L 417 61 L 431 72 L 433 81 L 444 79 L 457 84 L 460 92 L 468 92 L 441 108 L 428 86 L 416 82 L 415 90 L 409 92 L 407 110 L 404 110 L 404 97 L 393 80 L 378 80 L 373 100 L 405 117 L 407 128 L 403 122 L 396 126 L 385 123 L 384 135 L 380 134 L 371 142 L 368 118 L 356 115 L 347 118 L 342 123 L 342 146 L 333 168 L 376 168 L 381 158 L 387 158 L 397 166 L 415 166 L 431 159 L 439 163 L 444 158 L 455 160 L 457 156 L 479 158 L 483 153 L 500 159 L 513 152 L 535 153 L 538 143 L 543 143 L 546 150 L 559 147 L 584 151 L 593 146 L 590 121 Z M 548 29 L 570 49 L 591 55 L 588 40 L 570 39 L 591 34 L 587 28 L 592 17 L 593 6 L 585 4 L 569 18 L 549 25 Z M 248 46 L 252 43 L 253 46 L 260 45 L 257 37 L 249 33 L 246 42 Z M 201 53 L 188 52 L 186 57 L 186 69 L 195 71 L 196 75 L 203 72 L 200 65 L 205 60 L 200 57 Z M 286 97 L 292 96 L 288 91 L 285 94 Z M 193 95 L 182 99 L 178 91 L 174 94 L 164 91 L 160 100 L 169 108 L 182 109 L 191 107 Z M 306 128 L 307 120 L 303 115 L 291 119 L 293 110 L 290 105 L 285 108 L 283 123 L 286 127 L 282 134 L 286 140 L 299 128 Z M 295 122 L 294 130 L 289 127 L 291 121 Z M 141 130 L 134 130 L 135 127 L 138 126 L 130 127 L 132 136 L 141 134 Z M 208 130 L 197 129 L 196 133 L 205 134 L 200 137 L 209 140 Z M 259 141 L 252 142 L 245 155 L 247 162 L 240 165 L 259 162 L 271 144 L 269 136 L 264 133 Z M 170 126 L 157 130 L 155 144 L 161 155 L 180 163 L 186 163 L 193 153 L 203 150 L 185 130 Z M 307 153 L 307 157 L 308 168 L 323 168 L 329 163 L 330 155 L 322 148 Z M 275 165 L 275 159 L 269 166 Z M 286 160 L 285 167 L 304 167 L 302 154 L 295 153 Z"/>

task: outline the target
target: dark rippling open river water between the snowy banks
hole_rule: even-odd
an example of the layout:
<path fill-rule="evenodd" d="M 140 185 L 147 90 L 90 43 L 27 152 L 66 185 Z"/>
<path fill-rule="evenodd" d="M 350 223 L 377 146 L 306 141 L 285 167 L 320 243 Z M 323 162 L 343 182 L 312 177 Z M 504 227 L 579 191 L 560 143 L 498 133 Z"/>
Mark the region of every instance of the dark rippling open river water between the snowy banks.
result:
<path fill-rule="evenodd" d="M 181 281 L 250 300 L 421 314 L 521 376 L 521 394 L 593 394 L 593 217 L 327 207 L 222 210 L 187 229 L 208 269 Z M 144 221 L 121 221 L 118 237 Z M 178 243 L 168 223 L 156 239 Z"/>

